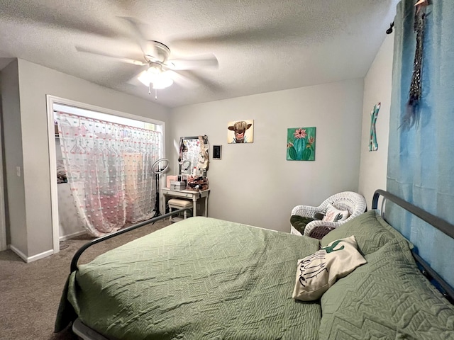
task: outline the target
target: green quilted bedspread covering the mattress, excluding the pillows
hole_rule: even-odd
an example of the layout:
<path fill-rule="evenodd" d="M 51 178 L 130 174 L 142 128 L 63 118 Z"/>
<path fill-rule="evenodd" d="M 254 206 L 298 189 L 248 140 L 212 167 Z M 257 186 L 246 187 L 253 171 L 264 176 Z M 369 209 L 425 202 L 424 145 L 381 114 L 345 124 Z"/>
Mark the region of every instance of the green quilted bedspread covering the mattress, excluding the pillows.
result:
<path fill-rule="evenodd" d="M 80 266 L 67 300 L 117 339 L 317 339 L 319 301 L 296 302 L 292 290 L 297 260 L 318 249 L 316 239 L 192 217 Z M 57 328 L 72 317 L 62 303 Z"/>

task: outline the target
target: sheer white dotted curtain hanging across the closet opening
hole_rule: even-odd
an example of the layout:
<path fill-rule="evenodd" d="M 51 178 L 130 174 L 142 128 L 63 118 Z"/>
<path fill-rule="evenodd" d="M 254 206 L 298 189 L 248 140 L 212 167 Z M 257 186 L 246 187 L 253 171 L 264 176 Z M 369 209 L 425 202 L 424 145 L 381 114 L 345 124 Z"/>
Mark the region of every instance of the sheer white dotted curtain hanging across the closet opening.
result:
<path fill-rule="evenodd" d="M 74 204 L 90 234 L 155 215 L 151 167 L 161 155 L 160 132 L 63 112 L 55 119 Z"/>

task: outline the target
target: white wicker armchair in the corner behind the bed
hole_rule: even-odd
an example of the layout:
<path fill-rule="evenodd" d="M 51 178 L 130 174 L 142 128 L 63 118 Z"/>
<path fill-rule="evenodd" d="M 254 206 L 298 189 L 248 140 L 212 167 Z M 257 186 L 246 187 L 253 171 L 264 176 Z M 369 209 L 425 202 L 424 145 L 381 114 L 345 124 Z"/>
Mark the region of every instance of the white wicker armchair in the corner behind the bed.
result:
<path fill-rule="evenodd" d="M 310 205 L 297 205 L 293 208 L 292 215 L 314 218 L 314 214 L 317 212 L 324 214 L 328 208 L 328 204 L 333 205 L 339 210 L 348 210 L 348 212 L 350 212 L 350 216 L 341 222 L 327 222 L 323 220 L 314 220 L 309 222 L 304 228 L 305 236 L 321 239 L 323 236 L 328 234 L 328 232 L 331 232 L 331 230 L 353 219 L 354 217 L 361 215 L 366 210 L 366 200 L 363 196 L 359 193 L 354 193 L 353 191 L 344 191 L 327 198 L 318 207 L 312 207 Z M 301 236 L 301 233 L 293 226 L 290 233 Z"/>

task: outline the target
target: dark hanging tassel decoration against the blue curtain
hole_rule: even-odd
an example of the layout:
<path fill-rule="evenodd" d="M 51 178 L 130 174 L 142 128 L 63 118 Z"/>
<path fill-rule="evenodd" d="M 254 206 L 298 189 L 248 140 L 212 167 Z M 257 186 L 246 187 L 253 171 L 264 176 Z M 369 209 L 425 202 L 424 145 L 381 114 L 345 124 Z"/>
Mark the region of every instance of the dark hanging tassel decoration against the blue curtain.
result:
<path fill-rule="evenodd" d="M 419 121 L 419 104 L 422 93 L 422 71 L 423 71 L 423 37 L 426 27 L 426 11 L 428 5 L 427 0 L 420 0 L 416 3 L 416 11 L 414 15 L 414 32 L 416 33 L 416 50 L 413 62 L 413 74 L 411 76 L 409 101 L 406 103 L 404 117 L 402 118 L 401 127 L 407 130 L 414 125 L 418 125 Z"/>

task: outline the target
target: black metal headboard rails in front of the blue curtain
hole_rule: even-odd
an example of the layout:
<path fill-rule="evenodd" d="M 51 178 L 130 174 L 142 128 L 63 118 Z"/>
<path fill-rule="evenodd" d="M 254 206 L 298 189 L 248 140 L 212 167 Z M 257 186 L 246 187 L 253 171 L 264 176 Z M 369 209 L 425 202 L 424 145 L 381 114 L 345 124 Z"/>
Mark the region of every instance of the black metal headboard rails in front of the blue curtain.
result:
<path fill-rule="evenodd" d="M 424 222 L 427 222 L 429 225 L 432 225 L 436 229 L 441 230 L 441 232 L 454 238 L 454 225 L 451 225 L 449 222 L 442 220 L 440 217 L 432 215 L 430 212 L 426 212 L 421 208 L 416 207 L 416 205 L 408 203 L 405 200 L 402 200 L 402 198 L 399 198 L 392 193 L 388 193 L 387 191 L 375 191 L 374 197 L 372 198 L 372 209 L 377 209 L 380 196 L 394 204 L 399 205 L 401 208 L 411 212 Z M 384 217 L 384 220 L 386 220 L 386 217 Z M 446 283 L 445 280 L 443 280 L 443 278 L 441 278 L 441 276 L 439 276 L 438 273 L 436 273 L 436 271 L 434 271 L 431 266 L 416 253 L 416 251 L 412 250 L 411 253 L 416 259 L 416 262 L 418 262 L 419 266 L 421 266 L 421 272 L 424 276 L 431 281 L 435 281 L 433 282 L 434 285 L 436 285 L 436 287 L 448 300 L 450 300 L 451 303 L 454 303 L 454 289 Z"/>

